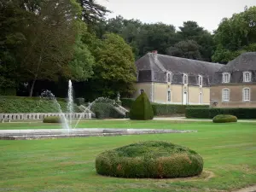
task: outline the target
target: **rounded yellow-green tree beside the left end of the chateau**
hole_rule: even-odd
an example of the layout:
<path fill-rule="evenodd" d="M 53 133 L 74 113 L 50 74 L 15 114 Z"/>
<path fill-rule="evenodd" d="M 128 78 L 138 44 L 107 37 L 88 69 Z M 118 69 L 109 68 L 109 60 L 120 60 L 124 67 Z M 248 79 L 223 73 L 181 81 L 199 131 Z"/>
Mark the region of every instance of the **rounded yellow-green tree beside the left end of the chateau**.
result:
<path fill-rule="evenodd" d="M 94 84 L 103 96 L 131 94 L 136 82 L 136 68 L 131 47 L 119 35 L 108 33 L 94 52 L 96 66 L 94 67 Z"/>

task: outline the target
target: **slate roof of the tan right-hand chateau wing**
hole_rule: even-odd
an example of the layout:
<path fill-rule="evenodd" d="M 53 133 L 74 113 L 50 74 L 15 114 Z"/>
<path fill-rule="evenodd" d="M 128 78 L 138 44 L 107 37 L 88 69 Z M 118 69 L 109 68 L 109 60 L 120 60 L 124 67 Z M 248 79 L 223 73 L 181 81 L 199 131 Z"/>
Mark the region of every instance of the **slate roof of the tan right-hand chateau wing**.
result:
<path fill-rule="evenodd" d="M 222 74 L 230 73 L 231 84 L 243 83 L 243 72 L 252 73 L 252 82 L 256 83 L 256 52 L 243 53 L 221 67 L 214 75 L 213 84 L 222 84 Z"/>

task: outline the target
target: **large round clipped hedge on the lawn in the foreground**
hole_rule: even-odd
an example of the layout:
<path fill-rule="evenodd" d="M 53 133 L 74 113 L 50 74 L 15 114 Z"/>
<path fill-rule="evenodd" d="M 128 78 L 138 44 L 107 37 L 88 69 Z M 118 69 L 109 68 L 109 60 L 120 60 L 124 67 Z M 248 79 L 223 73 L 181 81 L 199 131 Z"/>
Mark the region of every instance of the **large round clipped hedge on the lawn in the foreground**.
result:
<path fill-rule="evenodd" d="M 199 154 L 166 142 L 133 143 L 96 157 L 96 172 L 112 177 L 189 177 L 201 174 L 202 170 Z"/>

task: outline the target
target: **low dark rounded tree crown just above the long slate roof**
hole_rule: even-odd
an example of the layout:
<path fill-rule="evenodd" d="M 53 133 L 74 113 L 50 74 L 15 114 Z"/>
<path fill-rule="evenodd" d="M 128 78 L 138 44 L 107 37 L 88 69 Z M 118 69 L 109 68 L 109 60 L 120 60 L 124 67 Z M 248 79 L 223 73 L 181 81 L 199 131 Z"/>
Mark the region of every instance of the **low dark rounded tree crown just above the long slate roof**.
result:
<path fill-rule="evenodd" d="M 201 60 L 200 45 L 194 40 L 180 41 L 166 50 L 167 55 Z"/>

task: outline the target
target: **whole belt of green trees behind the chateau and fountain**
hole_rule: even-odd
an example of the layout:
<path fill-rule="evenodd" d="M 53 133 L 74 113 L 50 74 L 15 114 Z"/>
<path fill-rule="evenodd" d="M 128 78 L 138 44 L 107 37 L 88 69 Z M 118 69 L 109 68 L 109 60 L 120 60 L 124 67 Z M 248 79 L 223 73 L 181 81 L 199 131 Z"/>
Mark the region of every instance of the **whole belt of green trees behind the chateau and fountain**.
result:
<path fill-rule="evenodd" d="M 160 54 L 226 63 L 256 51 L 256 7 L 224 18 L 211 34 L 193 20 L 175 26 L 143 23 L 109 13 L 95 0 L 15 0 L 0 3 L 0 94 L 64 97 L 131 96 L 134 61 Z"/>

